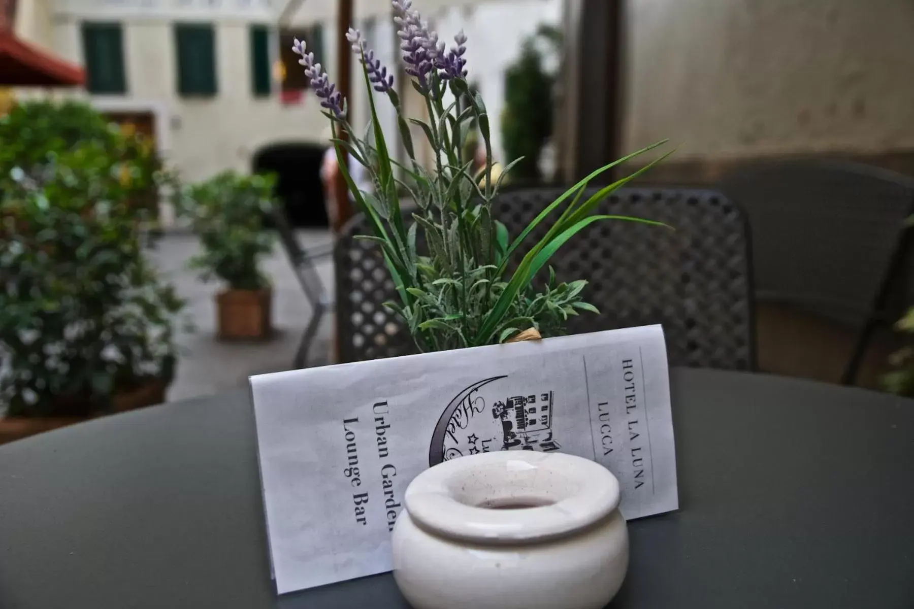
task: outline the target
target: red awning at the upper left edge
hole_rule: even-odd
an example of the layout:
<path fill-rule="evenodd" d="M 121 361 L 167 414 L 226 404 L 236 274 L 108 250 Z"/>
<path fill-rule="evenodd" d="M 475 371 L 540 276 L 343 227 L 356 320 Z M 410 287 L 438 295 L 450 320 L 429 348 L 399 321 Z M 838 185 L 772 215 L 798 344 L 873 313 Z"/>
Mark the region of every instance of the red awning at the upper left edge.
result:
<path fill-rule="evenodd" d="M 0 87 L 76 87 L 82 68 L 0 31 Z"/>

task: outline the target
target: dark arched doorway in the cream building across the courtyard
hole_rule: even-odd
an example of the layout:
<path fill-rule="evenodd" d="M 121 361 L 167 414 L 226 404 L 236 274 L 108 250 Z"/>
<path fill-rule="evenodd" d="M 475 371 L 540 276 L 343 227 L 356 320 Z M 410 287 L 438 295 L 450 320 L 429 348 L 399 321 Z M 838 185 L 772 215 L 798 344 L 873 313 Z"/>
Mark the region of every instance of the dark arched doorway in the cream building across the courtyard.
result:
<path fill-rule="evenodd" d="M 254 173 L 276 173 L 276 196 L 295 226 L 328 226 L 321 184 L 324 148 L 306 143 L 280 143 L 254 154 Z"/>

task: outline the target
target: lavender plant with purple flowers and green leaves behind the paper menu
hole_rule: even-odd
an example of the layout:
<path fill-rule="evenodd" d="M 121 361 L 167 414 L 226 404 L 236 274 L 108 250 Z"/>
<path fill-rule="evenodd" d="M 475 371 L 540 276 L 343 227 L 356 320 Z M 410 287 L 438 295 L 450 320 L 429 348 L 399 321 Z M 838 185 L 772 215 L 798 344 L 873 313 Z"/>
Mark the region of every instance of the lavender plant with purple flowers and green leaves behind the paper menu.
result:
<path fill-rule="evenodd" d="M 593 211 L 614 190 L 669 153 L 586 199 L 583 194 L 600 173 L 666 141 L 590 173 L 511 239 L 505 226 L 494 219 L 492 203 L 505 176 L 521 159 L 508 164 L 493 179 L 489 115 L 482 96 L 471 93 L 466 79 L 466 36 L 459 33 L 453 38 L 454 45 L 447 49 L 412 8 L 411 0 L 394 0 L 392 5 L 405 71 L 410 84 L 425 101 L 428 121 L 404 115 L 393 75 L 381 65 L 361 34 L 350 29 L 347 39 L 361 61 L 371 110 L 368 129 L 373 137 L 370 141 L 367 135 L 359 138 L 346 120 L 345 100 L 324 68 L 314 62 L 314 54 L 306 52 L 304 43 L 298 40 L 292 47 L 301 56 L 299 64 L 321 100 L 324 115 L 331 121 L 339 170 L 371 226 L 373 234 L 361 238 L 380 247 L 397 287 L 400 301 L 386 305 L 407 321 L 421 351 L 504 342 L 530 328 L 543 337 L 562 333 L 569 316 L 579 311 L 597 312 L 582 299 L 587 282 L 579 279 L 558 283 L 551 268 L 541 289 L 537 289 L 534 278 L 559 247 L 594 222 L 626 220 L 660 224 L 630 216 L 596 215 Z M 385 134 L 377 120 L 372 89 L 387 97 L 396 110 L 399 135 L 409 157 L 404 164 L 390 158 Z M 469 100 L 465 107 L 460 102 L 464 99 Z M 426 169 L 416 159 L 410 123 L 418 125 L 430 143 L 435 158 L 433 170 Z M 478 126 L 485 147 L 484 167 L 475 174 L 471 170 L 473 162 L 461 160 L 462 147 L 473 123 Z M 339 137 L 342 131 L 347 138 Z M 344 151 L 366 167 L 374 183 L 373 193 L 357 188 L 346 169 Z M 404 218 L 399 192 L 409 193 L 418 205 L 411 221 Z M 546 236 L 528 246 L 527 237 L 534 228 L 559 209 L 558 220 L 549 227 Z M 419 231 L 426 248 L 417 247 Z M 513 264 L 515 255 L 523 249 L 526 253 Z"/>

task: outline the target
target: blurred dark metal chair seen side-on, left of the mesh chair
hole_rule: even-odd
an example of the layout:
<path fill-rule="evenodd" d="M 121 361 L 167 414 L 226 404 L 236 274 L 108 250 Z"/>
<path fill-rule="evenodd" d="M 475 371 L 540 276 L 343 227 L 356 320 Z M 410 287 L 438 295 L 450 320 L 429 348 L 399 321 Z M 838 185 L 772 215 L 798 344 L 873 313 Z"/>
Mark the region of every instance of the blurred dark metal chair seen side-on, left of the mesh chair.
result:
<path fill-rule="evenodd" d="M 304 296 L 311 305 L 311 318 L 308 320 L 308 325 L 302 335 L 302 341 L 299 343 L 295 357 L 292 360 L 293 369 L 304 368 L 308 363 L 308 352 L 311 349 L 311 343 L 314 341 L 314 336 L 321 325 L 321 320 L 324 319 L 324 314 L 327 311 L 334 310 L 335 307 L 333 297 L 324 289 L 324 282 L 321 281 L 317 268 L 314 268 L 314 260 L 330 256 L 333 253 L 333 249 L 327 248 L 312 252 L 305 250 L 299 244 L 292 228 L 292 223 L 289 222 L 289 218 L 282 208 L 279 206 L 274 207 L 271 217 L 276 231 L 279 233 L 282 248 L 285 249 L 286 256 L 289 257 L 289 262 L 292 264 L 295 277 L 298 278 Z"/>

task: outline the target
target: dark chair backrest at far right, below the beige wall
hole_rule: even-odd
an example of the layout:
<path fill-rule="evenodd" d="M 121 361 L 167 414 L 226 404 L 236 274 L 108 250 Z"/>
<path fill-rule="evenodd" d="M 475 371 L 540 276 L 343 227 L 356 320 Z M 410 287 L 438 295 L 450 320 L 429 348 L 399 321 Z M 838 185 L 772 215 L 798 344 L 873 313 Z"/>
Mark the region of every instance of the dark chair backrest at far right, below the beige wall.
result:
<path fill-rule="evenodd" d="M 874 313 L 900 254 L 914 181 L 864 165 L 757 163 L 720 190 L 749 217 L 760 302 L 858 327 Z"/>

